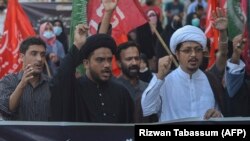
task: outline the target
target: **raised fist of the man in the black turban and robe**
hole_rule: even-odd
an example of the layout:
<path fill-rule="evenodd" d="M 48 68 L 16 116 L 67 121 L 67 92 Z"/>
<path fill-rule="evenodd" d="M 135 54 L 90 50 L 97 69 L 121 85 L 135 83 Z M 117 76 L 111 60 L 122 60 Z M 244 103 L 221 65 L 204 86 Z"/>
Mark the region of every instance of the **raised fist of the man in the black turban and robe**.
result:
<path fill-rule="evenodd" d="M 74 45 L 80 50 L 85 44 L 88 36 L 89 27 L 84 24 L 78 24 L 74 33 Z"/>

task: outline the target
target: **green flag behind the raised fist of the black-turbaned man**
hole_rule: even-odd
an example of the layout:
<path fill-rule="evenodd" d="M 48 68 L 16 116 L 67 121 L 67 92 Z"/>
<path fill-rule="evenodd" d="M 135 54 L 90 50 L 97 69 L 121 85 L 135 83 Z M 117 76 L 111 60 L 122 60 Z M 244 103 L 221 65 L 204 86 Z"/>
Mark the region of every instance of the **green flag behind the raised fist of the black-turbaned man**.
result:
<path fill-rule="evenodd" d="M 87 24 L 87 3 L 88 0 L 73 0 L 72 13 L 71 13 L 71 25 L 70 25 L 70 47 L 74 42 L 74 31 L 78 24 Z M 79 65 L 76 72 L 80 75 L 84 74 L 83 65 Z"/>

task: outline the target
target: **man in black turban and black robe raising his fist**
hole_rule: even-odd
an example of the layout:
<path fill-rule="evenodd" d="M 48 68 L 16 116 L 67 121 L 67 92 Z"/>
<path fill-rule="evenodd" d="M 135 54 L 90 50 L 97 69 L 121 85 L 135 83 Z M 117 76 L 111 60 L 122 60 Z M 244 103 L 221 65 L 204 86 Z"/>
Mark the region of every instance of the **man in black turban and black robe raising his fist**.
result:
<path fill-rule="evenodd" d="M 95 123 L 130 123 L 133 122 L 133 101 L 129 92 L 112 77 L 112 56 L 116 51 L 114 39 L 107 34 L 96 34 L 87 38 L 88 27 L 76 27 L 73 47 L 62 61 L 58 72 L 61 89 L 56 98 L 65 95 L 75 96 L 76 121 Z M 75 79 L 76 66 L 80 62 L 86 69 L 85 75 Z M 64 70 L 62 70 L 64 69 Z M 62 73 L 61 73 L 62 74 Z M 58 89 L 56 89 L 58 90 Z M 53 103 L 53 107 L 63 106 L 62 103 Z M 58 109 L 58 108 L 53 108 Z M 53 111 L 60 117 L 63 111 Z M 56 117 L 56 118 L 57 118 Z"/>

